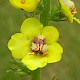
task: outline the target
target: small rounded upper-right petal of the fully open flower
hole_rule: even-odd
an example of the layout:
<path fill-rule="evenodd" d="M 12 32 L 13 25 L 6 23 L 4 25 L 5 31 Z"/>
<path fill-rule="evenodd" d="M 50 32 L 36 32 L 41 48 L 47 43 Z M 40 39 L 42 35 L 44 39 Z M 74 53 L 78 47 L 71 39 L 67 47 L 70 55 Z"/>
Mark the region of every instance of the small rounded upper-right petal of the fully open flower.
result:
<path fill-rule="evenodd" d="M 59 32 L 53 26 L 44 27 L 42 30 L 42 35 L 45 37 L 47 44 L 51 44 L 59 38 Z"/>

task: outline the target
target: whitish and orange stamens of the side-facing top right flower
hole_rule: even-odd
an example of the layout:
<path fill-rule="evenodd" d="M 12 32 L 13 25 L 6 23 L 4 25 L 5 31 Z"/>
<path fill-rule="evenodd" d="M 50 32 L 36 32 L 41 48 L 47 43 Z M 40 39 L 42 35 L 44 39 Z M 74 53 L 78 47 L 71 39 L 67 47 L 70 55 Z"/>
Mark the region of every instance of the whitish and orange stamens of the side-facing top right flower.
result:
<path fill-rule="evenodd" d="M 74 15 L 77 13 L 76 8 L 75 8 L 75 4 L 73 1 L 71 0 L 63 0 L 63 3 L 69 7 L 71 13 Z"/>

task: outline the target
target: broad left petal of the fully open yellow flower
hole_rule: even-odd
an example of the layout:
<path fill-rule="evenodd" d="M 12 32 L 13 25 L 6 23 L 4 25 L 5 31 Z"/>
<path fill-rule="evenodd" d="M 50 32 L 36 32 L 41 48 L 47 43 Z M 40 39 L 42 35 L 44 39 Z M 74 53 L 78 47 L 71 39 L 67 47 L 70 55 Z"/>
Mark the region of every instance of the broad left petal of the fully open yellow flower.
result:
<path fill-rule="evenodd" d="M 8 48 L 14 58 L 21 59 L 30 52 L 30 42 L 21 33 L 14 34 L 8 42 Z"/>

